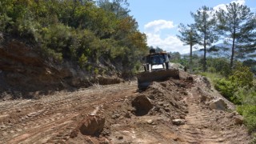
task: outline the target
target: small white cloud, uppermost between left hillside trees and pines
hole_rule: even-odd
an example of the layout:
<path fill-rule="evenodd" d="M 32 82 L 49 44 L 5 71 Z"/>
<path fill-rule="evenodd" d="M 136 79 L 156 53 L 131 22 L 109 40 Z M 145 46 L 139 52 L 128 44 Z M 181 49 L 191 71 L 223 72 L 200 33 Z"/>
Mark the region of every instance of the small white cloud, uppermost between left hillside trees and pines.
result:
<path fill-rule="evenodd" d="M 155 20 L 153 22 L 149 22 L 144 26 L 146 31 L 154 31 L 155 33 L 159 32 L 163 29 L 171 29 L 174 28 L 174 22 L 166 21 L 166 20 Z"/>

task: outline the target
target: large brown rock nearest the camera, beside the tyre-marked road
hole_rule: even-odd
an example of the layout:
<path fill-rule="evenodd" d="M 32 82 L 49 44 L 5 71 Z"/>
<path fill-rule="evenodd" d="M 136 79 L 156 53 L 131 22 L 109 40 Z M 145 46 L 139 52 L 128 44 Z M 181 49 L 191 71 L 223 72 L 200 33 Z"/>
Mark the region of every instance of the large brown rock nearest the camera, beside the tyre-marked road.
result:
<path fill-rule="evenodd" d="M 105 125 L 105 118 L 98 115 L 87 115 L 79 124 L 78 129 L 83 135 L 94 135 L 102 132 Z"/>

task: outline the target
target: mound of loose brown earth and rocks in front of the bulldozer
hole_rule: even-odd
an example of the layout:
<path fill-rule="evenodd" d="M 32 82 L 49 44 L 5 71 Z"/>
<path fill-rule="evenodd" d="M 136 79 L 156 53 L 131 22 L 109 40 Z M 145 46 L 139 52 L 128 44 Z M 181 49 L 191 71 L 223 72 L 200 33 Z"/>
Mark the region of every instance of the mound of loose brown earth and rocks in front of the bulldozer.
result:
<path fill-rule="evenodd" d="M 188 113 L 184 98 L 191 85 L 191 80 L 171 78 L 166 82 L 154 82 L 146 91 L 106 103 L 102 106 L 106 123 L 101 135 L 84 137 L 78 134 L 77 138 L 87 138 L 86 142 L 92 143 L 175 142 L 169 138 L 174 134 L 172 126 L 182 123 L 173 121 L 180 120 L 184 124 Z M 162 130 L 170 135 L 166 137 L 160 132 Z"/>

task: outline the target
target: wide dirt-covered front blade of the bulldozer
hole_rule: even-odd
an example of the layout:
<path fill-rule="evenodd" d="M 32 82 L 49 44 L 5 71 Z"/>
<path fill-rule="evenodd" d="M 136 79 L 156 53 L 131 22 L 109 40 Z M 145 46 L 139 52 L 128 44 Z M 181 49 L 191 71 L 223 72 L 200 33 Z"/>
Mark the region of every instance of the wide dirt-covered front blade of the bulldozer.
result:
<path fill-rule="evenodd" d="M 145 90 L 152 82 L 162 82 L 168 78 L 179 78 L 179 71 L 177 69 L 144 71 L 137 75 L 138 89 Z"/>

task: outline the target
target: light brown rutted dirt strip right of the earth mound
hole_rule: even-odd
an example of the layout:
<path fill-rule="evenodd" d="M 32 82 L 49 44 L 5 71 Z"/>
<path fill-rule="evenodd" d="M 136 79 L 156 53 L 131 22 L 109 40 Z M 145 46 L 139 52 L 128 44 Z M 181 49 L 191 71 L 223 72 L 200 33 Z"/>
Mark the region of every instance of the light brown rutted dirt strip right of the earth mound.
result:
<path fill-rule="evenodd" d="M 186 98 L 189 114 L 186 115 L 186 125 L 180 128 L 185 143 L 246 143 L 241 137 L 241 131 L 229 130 L 230 123 L 223 122 L 226 112 L 222 110 L 210 110 L 199 102 L 195 88 L 188 90 Z M 216 113 L 218 117 L 216 117 Z"/>

